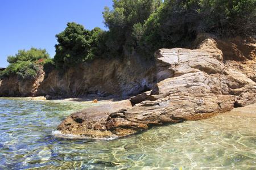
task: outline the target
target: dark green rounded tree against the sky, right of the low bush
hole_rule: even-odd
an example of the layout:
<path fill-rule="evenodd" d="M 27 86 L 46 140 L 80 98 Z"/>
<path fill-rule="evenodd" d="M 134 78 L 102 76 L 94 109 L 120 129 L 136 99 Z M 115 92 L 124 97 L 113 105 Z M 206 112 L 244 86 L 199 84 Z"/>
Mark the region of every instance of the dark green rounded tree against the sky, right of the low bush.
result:
<path fill-rule="evenodd" d="M 57 69 L 65 69 L 92 59 L 98 52 L 99 35 L 102 32 L 98 27 L 89 31 L 83 25 L 68 23 L 67 28 L 56 35 L 59 42 L 55 45 L 54 57 Z"/>

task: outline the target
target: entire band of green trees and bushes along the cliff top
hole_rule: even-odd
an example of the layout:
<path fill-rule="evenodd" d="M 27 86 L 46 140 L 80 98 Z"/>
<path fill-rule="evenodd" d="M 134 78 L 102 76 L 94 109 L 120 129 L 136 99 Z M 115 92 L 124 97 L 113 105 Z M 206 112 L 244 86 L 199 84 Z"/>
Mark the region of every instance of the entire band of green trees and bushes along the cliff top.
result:
<path fill-rule="evenodd" d="M 255 0 L 113 0 L 113 8 L 105 7 L 102 14 L 108 31 L 68 23 L 56 35 L 59 44 L 53 60 L 47 59 L 46 50 L 19 50 L 7 58 L 10 65 L 0 78 L 11 74 L 34 78 L 38 59 L 47 59 L 44 71 L 49 73 L 55 64 L 65 70 L 97 57 L 122 58 L 124 53 L 152 58 L 159 48 L 187 46 L 199 32 L 220 37 L 256 35 Z"/>

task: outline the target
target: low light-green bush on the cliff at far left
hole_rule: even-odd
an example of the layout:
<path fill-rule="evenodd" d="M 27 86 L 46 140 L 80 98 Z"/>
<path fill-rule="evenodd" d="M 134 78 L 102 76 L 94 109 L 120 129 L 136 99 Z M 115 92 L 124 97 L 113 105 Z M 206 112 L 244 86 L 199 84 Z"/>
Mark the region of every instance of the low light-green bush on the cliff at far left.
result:
<path fill-rule="evenodd" d="M 44 62 L 49 59 L 46 49 L 31 48 L 30 50 L 18 50 L 15 56 L 8 56 L 9 66 L 0 71 L 0 79 L 9 76 L 18 76 L 18 80 L 35 79 L 38 71 L 44 66 Z"/>

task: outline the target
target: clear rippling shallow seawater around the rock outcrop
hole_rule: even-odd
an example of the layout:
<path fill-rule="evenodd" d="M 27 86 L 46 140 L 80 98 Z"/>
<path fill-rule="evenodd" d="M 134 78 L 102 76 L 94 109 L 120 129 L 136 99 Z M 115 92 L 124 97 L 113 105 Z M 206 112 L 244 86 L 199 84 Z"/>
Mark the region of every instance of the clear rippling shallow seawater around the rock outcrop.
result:
<path fill-rule="evenodd" d="M 57 137 L 93 104 L 0 98 L 0 169 L 256 169 L 256 120 L 220 114 L 114 140 Z"/>

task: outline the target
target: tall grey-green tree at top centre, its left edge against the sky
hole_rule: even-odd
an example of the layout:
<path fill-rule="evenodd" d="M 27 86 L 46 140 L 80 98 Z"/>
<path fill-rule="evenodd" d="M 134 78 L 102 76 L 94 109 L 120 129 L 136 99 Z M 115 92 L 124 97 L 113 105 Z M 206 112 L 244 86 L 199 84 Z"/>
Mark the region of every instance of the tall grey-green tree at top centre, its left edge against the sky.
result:
<path fill-rule="evenodd" d="M 126 46 L 126 49 L 133 49 L 140 36 L 138 31 L 133 34 L 134 28 L 144 24 L 161 3 L 160 0 L 113 0 L 112 10 L 105 7 L 102 14 L 106 27 L 110 29 L 106 40 L 106 46 L 110 51 L 121 53 L 123 46 Z"/>

